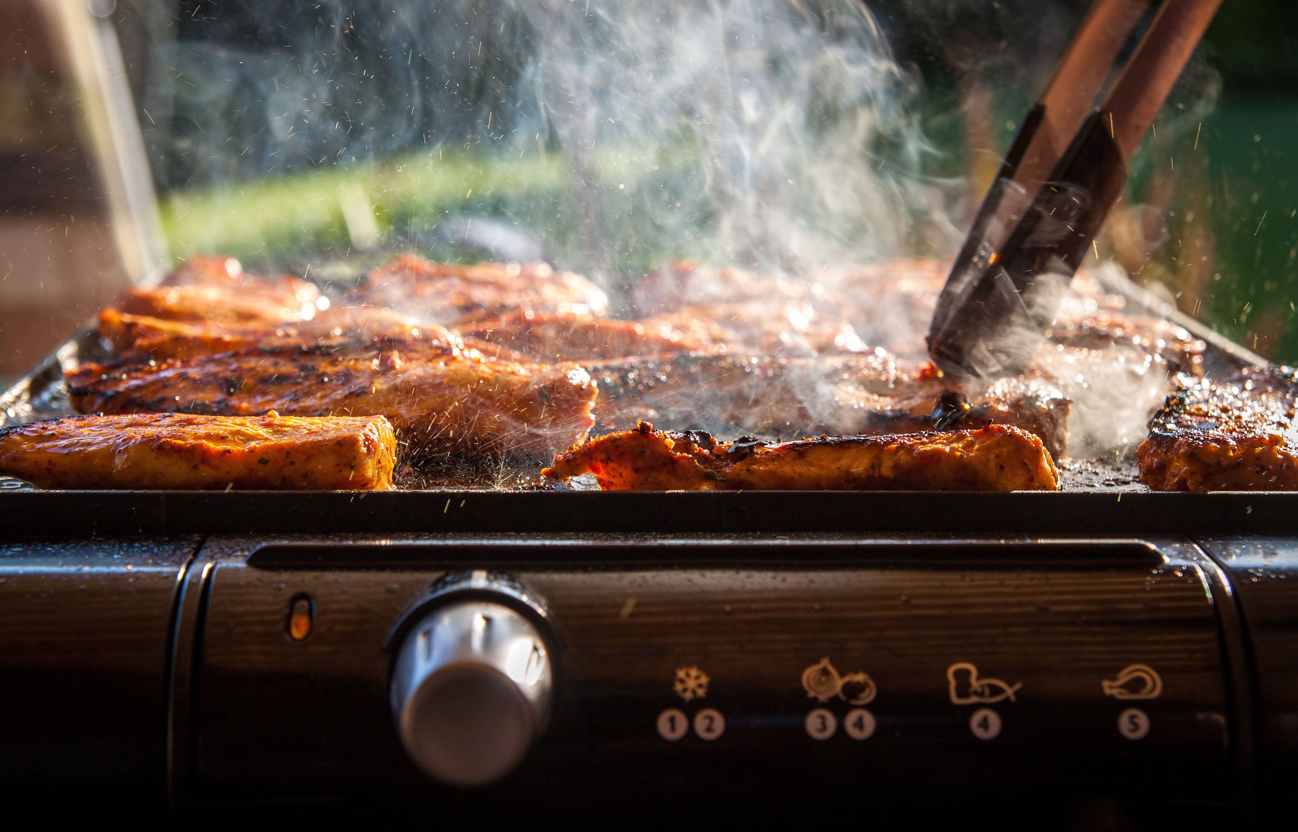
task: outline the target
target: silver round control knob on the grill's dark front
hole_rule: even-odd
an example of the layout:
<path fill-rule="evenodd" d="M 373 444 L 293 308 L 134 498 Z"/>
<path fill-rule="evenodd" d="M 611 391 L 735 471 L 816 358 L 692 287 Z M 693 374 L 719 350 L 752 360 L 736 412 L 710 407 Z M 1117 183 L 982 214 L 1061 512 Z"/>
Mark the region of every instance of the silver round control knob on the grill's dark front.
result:
<path fill-rule="evenodd" d="M 410 758 L 452 785 L 509 774 L 545 728 L 549 653 L 513 609 L 462 601 L 434 610 L 406 636 L 392 709 Z"/>

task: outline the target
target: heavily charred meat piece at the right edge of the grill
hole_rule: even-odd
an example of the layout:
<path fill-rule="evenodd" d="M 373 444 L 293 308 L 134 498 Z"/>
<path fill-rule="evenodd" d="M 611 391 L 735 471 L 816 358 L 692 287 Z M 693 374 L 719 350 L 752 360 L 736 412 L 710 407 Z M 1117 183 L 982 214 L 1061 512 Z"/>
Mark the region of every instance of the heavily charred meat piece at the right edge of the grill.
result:
<path fill-rule="evenodd" d="M 1180 382 L 1136 452 L 1142 483 L 1155 491 L 1298 489 L 1298 370 Z"/>

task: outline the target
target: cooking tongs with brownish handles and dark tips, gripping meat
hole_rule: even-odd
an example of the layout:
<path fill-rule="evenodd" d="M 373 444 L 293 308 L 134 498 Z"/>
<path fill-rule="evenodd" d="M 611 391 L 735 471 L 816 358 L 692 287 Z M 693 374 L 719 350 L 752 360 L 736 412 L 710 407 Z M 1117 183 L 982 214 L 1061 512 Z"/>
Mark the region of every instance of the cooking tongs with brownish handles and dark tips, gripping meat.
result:
<path fill-rule="evenodd" d="M 928 332 L 942 371 L 1027 367 L 1128 164 L 1221 0 L 1164 0 L 1098 108 L 1150 0 L 1096 0 L 983 200 Z"/>

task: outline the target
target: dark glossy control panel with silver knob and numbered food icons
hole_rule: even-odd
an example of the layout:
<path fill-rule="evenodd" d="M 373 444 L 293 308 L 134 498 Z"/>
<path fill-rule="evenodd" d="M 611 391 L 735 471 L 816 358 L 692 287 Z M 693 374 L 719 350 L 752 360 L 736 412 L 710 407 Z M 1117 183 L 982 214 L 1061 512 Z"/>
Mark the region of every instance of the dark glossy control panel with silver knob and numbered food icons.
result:
<path fill-rule="evenodd" d="M 1229 798 L 1215 567 L 1189 544 L 302 541 L 206 562 L 199 800 L 1140 789 L 1168 761 Z"/>

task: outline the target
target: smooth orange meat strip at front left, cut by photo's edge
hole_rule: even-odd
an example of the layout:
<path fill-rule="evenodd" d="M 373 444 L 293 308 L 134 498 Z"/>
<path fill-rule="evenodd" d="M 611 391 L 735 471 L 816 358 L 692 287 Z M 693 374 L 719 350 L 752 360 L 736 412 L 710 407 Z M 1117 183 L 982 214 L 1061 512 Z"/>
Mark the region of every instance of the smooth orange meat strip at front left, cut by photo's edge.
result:
<path fill-rule="evenodd" d="M 83 415 L 0 430 L 0 471 L 42 488 L 391 489 L 383 417 Z"/>

